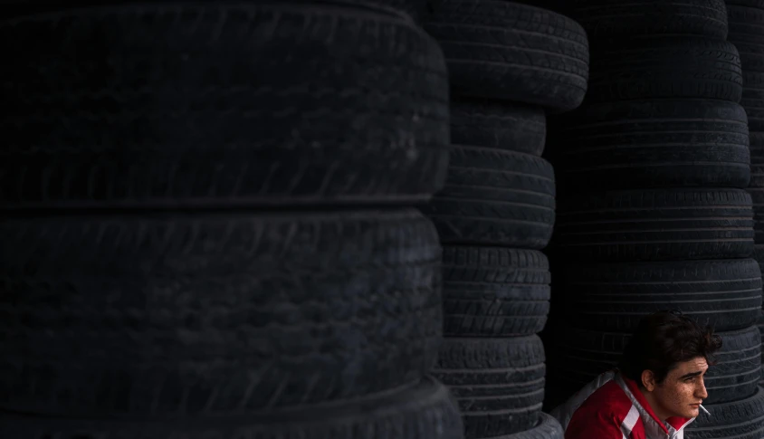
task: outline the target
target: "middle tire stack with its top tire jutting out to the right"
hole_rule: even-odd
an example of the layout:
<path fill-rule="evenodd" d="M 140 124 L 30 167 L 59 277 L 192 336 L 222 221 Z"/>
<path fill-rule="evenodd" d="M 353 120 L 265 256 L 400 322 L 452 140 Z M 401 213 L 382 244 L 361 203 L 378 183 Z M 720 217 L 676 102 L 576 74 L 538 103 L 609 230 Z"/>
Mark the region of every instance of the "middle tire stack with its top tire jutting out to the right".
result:
<path fill-rule="evenodd" d="M 468 439 L 560 438 L 541 413 L 537 333 L 549 312 L 554 172 L 540 157 L 545 110 L 587 88 L 587 36 L 560 14 L 504 0 L 442 0 L 425 29 L 443 47 L 452 149 L 444 189 L 424 210 L 444 245 L 444 344 L 435 377 L 451 388 Z"/>

